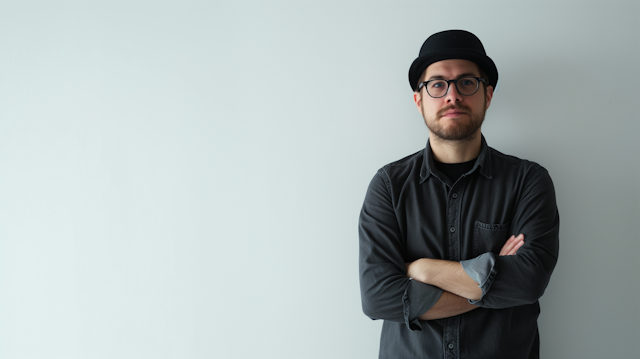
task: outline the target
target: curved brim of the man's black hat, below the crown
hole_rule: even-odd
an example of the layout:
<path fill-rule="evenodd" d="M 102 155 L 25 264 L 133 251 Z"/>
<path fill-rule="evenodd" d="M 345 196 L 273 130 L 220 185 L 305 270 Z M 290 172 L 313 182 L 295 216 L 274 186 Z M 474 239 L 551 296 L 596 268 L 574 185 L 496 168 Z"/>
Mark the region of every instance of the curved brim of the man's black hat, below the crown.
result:
<path fill-rule="evenodd" d="M 443 60 L 463 59 L 475 62 L 489 77 L 487 80 L 489 85 L 494 89 L 498 83 L 498 68 L 491 58 L 478 51 L 469 49 L 447 49 L 442 51 L 434 51 L 425 56 L 420 56 L 413 61 L 409 68 L 409 84 L 411 89 L 415 91 L 418 87 L 418 81 L 424 70 L 429 65 Z"/>

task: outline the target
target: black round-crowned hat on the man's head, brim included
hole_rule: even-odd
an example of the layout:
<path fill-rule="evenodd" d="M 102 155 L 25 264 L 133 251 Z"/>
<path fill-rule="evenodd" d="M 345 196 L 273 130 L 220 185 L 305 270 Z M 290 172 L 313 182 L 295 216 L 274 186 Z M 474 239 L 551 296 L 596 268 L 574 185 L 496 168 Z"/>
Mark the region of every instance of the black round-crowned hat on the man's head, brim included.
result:
<path fill-rule="evenodd" d="M 480 39 L 468 31 L 447 30 L 429 36 L 422 44 L 418 58 L 409 68 L 411 89 L 416 90 L 420 76 L 429 65 L 449 59 L 464 59 L 475 62 L 487 74 L 489 85 L 496 88 L 498 69 L 493 60 L 487 56 Z"/>

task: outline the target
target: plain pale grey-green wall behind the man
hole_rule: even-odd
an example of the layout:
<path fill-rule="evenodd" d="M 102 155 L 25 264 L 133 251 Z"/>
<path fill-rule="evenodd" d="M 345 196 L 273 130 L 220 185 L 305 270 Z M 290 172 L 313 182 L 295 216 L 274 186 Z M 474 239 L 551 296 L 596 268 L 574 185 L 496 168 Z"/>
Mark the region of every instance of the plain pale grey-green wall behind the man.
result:
<path fill-rule="evenodd" d="M 545 166 L 544 358 L 634 357 L 638 1 L 0 2 L 0 357 L 375 358 L 357 220 L 424 147 L 432 33 L 500 72 L 483 132 Z"/>

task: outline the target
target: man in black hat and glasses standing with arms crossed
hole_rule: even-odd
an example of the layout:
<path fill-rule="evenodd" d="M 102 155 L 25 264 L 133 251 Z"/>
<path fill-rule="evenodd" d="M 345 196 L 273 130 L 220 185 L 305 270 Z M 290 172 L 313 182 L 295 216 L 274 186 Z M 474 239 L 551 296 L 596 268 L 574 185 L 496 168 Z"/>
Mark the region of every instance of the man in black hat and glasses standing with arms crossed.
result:
<path fill-rule="evenodd" d="M 364 313 L 380 358 L 538 358 L 538 298 L 558 258 L 553 183 L 481 134 L 498 70 L 462 30 L 409 70 L 424 150 L 382 167 L 360 214 Z"/>

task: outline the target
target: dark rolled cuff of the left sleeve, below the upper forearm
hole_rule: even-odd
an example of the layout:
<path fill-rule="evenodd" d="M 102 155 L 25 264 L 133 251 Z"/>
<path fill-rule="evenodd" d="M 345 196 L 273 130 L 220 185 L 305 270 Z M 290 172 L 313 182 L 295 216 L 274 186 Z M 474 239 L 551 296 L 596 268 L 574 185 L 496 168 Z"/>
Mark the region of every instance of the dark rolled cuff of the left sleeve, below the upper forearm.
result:
<path fill-rule="evenodd" d="M 430 284 L 409 280 L 407 290 L 402 296 L 404 323 L 407 328 L 410 330 L 422 330 L 419 317 L 436 304 L 442 292 L 442 289 Z"/>

